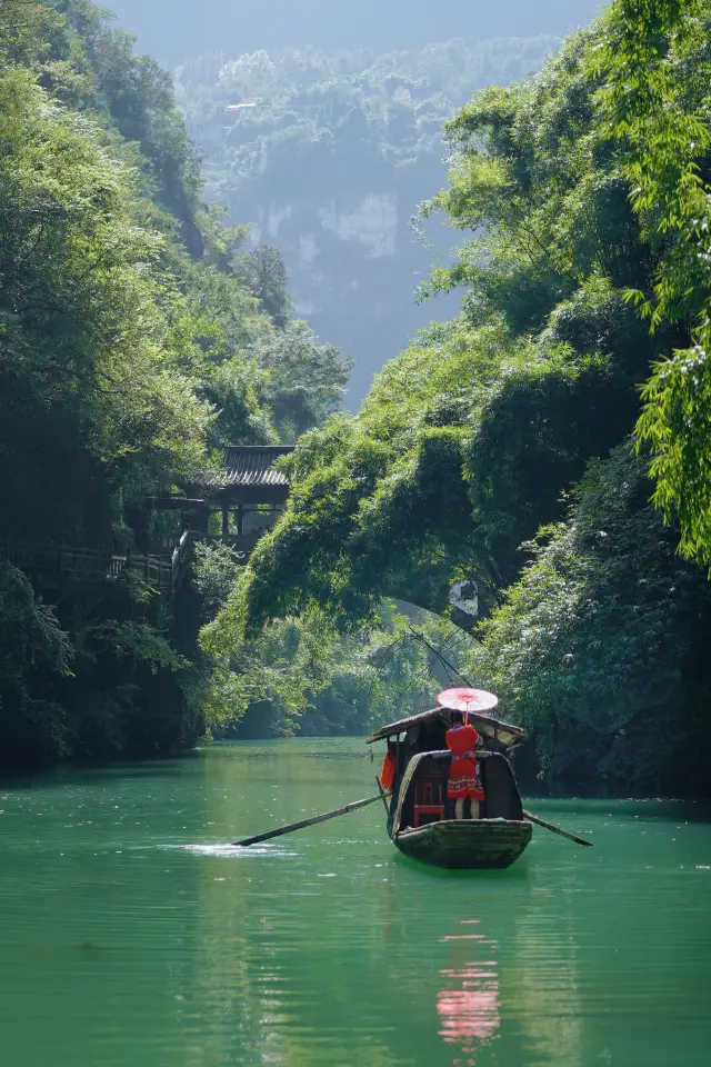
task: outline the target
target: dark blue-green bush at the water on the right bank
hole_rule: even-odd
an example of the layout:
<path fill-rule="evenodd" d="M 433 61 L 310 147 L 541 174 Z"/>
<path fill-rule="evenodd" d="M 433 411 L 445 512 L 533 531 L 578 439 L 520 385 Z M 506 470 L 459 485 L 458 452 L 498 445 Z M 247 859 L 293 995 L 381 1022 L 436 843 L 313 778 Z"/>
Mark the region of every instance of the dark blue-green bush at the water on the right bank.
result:
<path fill-rule="evenodd" d="M 469 669 L 530 729 L 550 779 L 703 794 L 711 586 L 649 502 L 647 463 L 627 443 L 590 465 Z"/>

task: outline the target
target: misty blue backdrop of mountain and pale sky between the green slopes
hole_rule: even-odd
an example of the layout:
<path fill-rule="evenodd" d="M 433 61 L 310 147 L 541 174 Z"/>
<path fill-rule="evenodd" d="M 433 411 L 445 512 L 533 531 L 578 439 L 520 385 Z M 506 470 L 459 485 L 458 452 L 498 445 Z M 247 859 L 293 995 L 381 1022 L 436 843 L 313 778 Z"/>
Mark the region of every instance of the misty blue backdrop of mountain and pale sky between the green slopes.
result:
<path fill-rule="evenodd" d="M 435 12 L 417 0 L 307 0 L 267 11 L 211 0 L 199 20 L 188 2 L 169 7 L 169 18 L 160 2 L 117 11 L 139 47 L 179 60 L 208 198 L 250 225 L 252 245 L 279 248 L 294 313 L 353 359 L 356 410 L 418 329 L 457 311 L 457 296 L 420 302 L 418 291 L 452 231 L 439 218 L 412 225 L 445 180 L 444 121 L 474 90 L 539 70 L 599 4 L 450 0 Z"/>

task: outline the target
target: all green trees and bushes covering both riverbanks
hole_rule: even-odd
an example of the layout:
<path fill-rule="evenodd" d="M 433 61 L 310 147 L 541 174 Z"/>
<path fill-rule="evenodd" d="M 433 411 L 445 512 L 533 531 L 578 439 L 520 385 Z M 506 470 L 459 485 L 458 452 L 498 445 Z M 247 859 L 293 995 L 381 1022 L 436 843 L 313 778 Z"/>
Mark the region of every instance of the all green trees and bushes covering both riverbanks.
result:
<path fill-rule="evenodd" d="M 710 22 L 700 0 L 615 0 L 455 114 L 421 218 L 461 245 L 421 295 L 461 311 L 352 416 L 278 250 L 206 205 L 170 79 L 88 0 L 7 0 L 4 764 L 361 732 L 451 677 L 500 695 L 549 782 L 704 792 Z M 130 555 L 147 498 L 280 441 L 290 501 L 247 567 L 204 544 L 167 598 L 130 568 L 97 591 L 19 562 Z"/>

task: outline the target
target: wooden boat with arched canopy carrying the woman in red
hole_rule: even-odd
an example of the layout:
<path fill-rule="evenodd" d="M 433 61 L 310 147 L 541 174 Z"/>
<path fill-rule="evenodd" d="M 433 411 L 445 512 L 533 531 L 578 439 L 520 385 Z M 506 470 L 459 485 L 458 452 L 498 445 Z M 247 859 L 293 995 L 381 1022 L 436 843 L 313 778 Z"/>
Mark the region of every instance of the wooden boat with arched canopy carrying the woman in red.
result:
<path fill-rule="evenodd" d="M 394 757 L 388 832 L 405 856 L 438 867 L 510 867 L 528 846 L 533 830 L 523 817 L 508 758 L 525 734 L 521 727 L 483 712 L 469 714 L 469 721 L 488 748 L 479 754 L 485 794 L 479 819 L 455 819 L 453 802 L 447 799 L 451 754 L 444 747 L 444 737 L 452 725 L 451 710 L 437 707 L 391 722 L 368 738 L 369 745 L 387 740 Z"/>

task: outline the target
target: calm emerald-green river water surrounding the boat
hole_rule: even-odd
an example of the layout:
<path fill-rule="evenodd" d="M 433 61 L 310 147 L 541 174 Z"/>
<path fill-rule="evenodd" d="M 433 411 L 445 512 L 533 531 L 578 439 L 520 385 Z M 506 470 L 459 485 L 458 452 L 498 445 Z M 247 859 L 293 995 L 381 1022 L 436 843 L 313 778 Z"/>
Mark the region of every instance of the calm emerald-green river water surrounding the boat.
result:
<path fill-rule="evenodd" d="M 2 1067 L 708 1067 L 711 827 L 535 801 L 508 871 L 400 856 L 360 740 L 0 788 Z"/>

